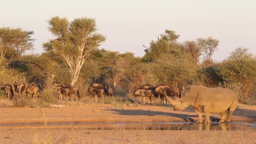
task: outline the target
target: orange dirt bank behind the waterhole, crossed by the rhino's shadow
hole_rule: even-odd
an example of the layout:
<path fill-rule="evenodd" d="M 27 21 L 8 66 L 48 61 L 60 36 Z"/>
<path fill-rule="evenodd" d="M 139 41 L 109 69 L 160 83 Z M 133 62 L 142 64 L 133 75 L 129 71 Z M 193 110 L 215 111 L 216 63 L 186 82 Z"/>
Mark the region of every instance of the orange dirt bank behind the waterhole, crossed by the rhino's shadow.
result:
<path fill-rule="evenodd" d="M 256 122 L 256 106 L 240 104 L 233 114 L 233 121 Z M 219 114 L 211 114 L 218 121 Z M 188 107 L 174 111 L 166 106 L 123 106 L 109 104 L 85 104 L 53 108 L 0 108 L 0 124 L 10 123 L 111 123 L 111 122 L 195 122 L 197 114 Z"/>

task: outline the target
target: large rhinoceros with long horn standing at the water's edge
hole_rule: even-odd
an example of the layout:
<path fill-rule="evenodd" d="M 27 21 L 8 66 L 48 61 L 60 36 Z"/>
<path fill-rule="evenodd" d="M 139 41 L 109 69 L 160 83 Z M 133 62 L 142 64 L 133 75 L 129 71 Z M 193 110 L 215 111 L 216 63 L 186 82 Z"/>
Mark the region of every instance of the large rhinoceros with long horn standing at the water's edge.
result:
<path fill-rule="evenodd" d="M 208 88 L 203 85 L 191 85 L 178 100 L 166 96 L 173 105 L 173 109 L 181 110 L 188 106 L 194 108 L 198 115 L 198 122 L 202 123 L 202 110 L 205 113 L 205 123 L 211 123 L 210 113 L 221 113 L 219 122 L 230 122 L 238 104 L 237 95 L 229 88 Z M 229 111 L 228 116 L 226 111 Z"/>

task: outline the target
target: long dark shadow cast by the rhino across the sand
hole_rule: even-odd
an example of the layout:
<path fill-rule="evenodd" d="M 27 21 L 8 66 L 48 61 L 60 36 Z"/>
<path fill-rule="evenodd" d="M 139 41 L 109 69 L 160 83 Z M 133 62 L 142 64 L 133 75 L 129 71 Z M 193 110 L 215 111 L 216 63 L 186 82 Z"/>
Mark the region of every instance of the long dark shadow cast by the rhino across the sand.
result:
<path fill-rule="evenodd" d="M 108 110 L 108 109 L 105 109 Z M 167 115 L 170 117 L 178 117 L 183 119 L 186 122 L 195 123 L 195 120 L 192 117 L 197 118 L 197 115 L 187 115 L 187 114 L 177 114 L 172 112 L 158 112 L 158 111 L 149 111 L 149 110 L 125 110 L 125 109 L 111 109 L 111 111 L 118 112 L 119 115 L 147 115 L 147 116 L 154 116 L 154 115 Z M 204 117 L 204 116 L 203 116 Z M 212 121 L 219 121 L 219 118 L 210 117 Z"/>

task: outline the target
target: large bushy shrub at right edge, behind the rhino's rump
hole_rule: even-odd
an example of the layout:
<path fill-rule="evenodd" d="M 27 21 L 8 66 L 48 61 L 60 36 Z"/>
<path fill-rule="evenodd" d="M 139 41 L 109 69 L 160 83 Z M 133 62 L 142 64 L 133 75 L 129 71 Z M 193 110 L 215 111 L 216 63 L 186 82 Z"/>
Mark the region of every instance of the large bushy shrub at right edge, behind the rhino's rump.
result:
<path fill-rule="evenodd" d="M 228 59 L 221 63 L 219 75 L 228 82 L 228 87 L 244 102 L 250 98 L 256 83 L 256 57 L 248 53 L 248 48 L 237 48 Z"/>

